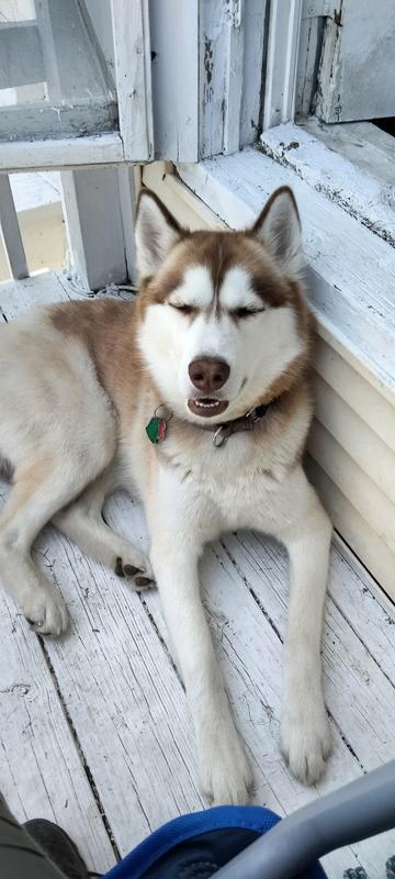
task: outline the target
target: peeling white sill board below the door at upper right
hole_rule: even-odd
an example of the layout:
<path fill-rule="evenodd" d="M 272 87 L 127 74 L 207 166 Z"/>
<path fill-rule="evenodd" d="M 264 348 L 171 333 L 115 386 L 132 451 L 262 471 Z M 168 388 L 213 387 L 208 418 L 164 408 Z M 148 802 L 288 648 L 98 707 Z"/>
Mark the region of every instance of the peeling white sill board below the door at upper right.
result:
<path fill-rule="evenodd" d="M 395 196 L 391 198 L 374 171 L 365 174 L 292 123 L 264 132 L 261 144 L 267 155 L 395 245 Z"/>

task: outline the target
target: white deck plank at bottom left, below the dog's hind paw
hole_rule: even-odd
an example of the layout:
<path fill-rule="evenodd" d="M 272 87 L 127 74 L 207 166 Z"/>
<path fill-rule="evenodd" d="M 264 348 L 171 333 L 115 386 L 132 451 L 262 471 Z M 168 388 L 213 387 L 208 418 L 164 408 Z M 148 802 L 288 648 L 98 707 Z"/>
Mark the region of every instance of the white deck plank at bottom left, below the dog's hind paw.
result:
<path fill-rule="evenodd" d="M 19 821 L 55 821 L 105 871 L 115 856 L 40 639 L 2 591 L 0 639 L 1 792 Z"/>

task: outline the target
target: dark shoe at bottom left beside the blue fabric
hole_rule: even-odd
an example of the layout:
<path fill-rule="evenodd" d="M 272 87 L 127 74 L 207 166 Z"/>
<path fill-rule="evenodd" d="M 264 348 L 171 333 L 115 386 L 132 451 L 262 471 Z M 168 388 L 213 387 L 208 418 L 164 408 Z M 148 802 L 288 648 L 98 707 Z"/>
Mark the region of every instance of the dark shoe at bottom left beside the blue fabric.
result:
<path fill-rule="evenodd" d="M 76 844 L 57 824 L 38 817 L 26 821 L 23 827 L 67 879 L 88 879 L 90 876 L 98 876 L 88 872 Z"/>

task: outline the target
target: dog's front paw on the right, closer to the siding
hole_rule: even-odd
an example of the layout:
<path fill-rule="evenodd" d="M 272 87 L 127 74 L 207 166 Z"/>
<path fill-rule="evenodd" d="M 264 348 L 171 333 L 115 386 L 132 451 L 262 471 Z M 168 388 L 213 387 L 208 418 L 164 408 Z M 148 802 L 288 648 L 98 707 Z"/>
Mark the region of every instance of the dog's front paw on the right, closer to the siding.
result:
<path fill-rule="evenodd" d="M 303 785 L 315 785 L 326 769 L 331 752 L 330 728 L 325 705 L 291 712 L 285 708 L 281 730 L 281 746 L 292 775 Z"/>

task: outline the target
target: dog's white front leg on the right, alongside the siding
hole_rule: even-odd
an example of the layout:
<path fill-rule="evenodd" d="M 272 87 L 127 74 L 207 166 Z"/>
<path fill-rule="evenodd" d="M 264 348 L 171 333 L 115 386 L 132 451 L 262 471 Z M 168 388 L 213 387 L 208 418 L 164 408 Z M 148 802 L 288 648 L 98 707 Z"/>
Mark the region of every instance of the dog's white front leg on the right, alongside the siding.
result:
<path fill-rule="evenodd" d="M 302 468 L 290 478 L 290 489 L 289 521 L 276 534 L 289 552 L 291 576 L 282 748 L 296 778 L 314 785 L 330 754 L 320 642 L 331 524 Z"/>

